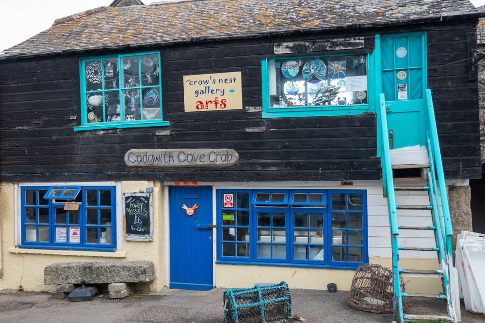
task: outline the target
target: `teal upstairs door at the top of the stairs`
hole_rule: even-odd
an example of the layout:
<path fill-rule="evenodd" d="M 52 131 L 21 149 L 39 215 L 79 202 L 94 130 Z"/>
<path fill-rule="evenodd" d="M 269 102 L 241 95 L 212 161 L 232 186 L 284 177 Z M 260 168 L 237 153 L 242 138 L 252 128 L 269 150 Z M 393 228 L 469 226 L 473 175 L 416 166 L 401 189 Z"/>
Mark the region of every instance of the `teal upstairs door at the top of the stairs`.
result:
<path fill-rule="evenodd" d="M 376 36 L 376 53 L 376 85 L 386 96 L 391 149 L 425 145 L 426 34 Z"/>

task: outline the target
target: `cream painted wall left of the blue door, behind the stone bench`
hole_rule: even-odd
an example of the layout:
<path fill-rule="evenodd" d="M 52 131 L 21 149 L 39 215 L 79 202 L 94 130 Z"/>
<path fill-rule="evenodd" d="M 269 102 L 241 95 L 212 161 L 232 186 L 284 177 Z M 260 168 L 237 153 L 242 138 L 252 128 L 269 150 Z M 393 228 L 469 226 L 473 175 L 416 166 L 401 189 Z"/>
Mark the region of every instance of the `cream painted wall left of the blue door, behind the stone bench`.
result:
<path fill-rule="evenodd" d="M 2 184 L 4 185 L 4 184 Z M 160 182 L 122 182 L 123 193 L 138 192 L 140 189 L 153 186 L 153 236 L 154 241 L 122 241 L 122 250 L 113 254 L 124 254 L 126 257 L 93 257 L 88 256 L 93 252 L 84 252 L 85 255 L 52 255 L 15 253 L 15 212 L 14 212 L 14 188 L 12 185 L 1 186 L 0 191 L 0 238 L 1 260 L 3 276 L 0 278 L 0 290 L 17 289 L 20 285 L 30 291 L 53 291 L 55 285 L 44 285 L 44 268 L 55 262 L 78 262 L 78 261 L 137 261 L 151 260 L 155 265 L 157 278 L 148 283 L 141 283 L 140 288 L 150 291 L 160 291 L 165 285 L 164 250 L 164 221 L 163 221 L 163 188 Z M 117 197 L 117 201 L 121 201 Z M 118 217 L 123 218 L 123 216 Z M 10 252 L 9 252 L 10 250 Z M 18 250 L 18 248 L 17 248 Z M 25 252 L 25 249 L 21 250 Z M 38 249 L 35 250 L 39 252 Z M 72 254 L 82 254 L 80 251 Z M 110 254 L 109 252 L 102 252 Z"/>

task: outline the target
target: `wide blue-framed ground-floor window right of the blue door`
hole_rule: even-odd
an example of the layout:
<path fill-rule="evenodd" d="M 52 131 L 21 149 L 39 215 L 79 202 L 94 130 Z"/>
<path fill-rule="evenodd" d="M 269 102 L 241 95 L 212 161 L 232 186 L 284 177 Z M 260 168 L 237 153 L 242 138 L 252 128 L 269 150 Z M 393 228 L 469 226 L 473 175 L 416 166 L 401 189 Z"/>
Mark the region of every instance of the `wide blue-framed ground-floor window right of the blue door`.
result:
<path fill-rule="evenodd" d="M 368 261 L 366 191 L 217 190 L 217 205 L 219 263 L 355 269 Z"/>

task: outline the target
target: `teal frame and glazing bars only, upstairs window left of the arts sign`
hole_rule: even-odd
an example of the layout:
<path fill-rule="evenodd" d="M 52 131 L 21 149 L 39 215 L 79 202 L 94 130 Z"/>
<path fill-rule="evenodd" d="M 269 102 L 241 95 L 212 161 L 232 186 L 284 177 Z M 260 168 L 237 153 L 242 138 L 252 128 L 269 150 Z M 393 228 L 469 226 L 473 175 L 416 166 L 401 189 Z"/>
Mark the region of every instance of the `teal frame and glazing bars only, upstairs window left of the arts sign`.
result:
<path fill-rule="evenodd" d="M 121 63 L 123 62 L 122 59 L 124 57 L 131 57 L 131 56 L 138 56 L 140 57 L 141 55 L 158 55 L 158 61 L 159 61 L 159 68 L 160 68 L 160 73 L 158 75 L 159 79 L 159 99 L 160 99 L 160 120 L 149 120 L 149 121 L 143 121 L 143 120 L 131 120 L 131 121 L 124 121 L 125 119 L 125 100 L 123 91 L 128 89 L 124 88 L 122 84 L 123 80 L 123 68 L 121 68 Z M 90 62 L 90 61 L 98 61 L 100 60 L 108 60 L 108 59 L 118 59 L 118 92 L 119 92 L 119 98 L 120 98 L 120 121 L 111 121 L 111 122 L 101 122 L 101 123 L 88 123 L 87 122 L 87 108 L 86 108 L 86 94 L 87 93 L 92 93 L 92 92 L 102 92 L 103 96 L 105 92 L 115 92 L 115 90 L 110 89 L 110 90 L 102 90 L 102 91 L 86 91 L 86 76 L 84 73 L 84 62 Z M 138 59 L 138 68 L 140 69 L 140 59 Z M 104 66 L 103 66 L 104 69 Z M 163 105 L 162 105 L 162 64 L 160 61 L 160 52 L 159 51 L 149 51 L 149 52 L 138 52 L 138 53 L 129 53 L 129 54 L 119 54 L 119 55 L 108 55 L 108 56 L 97 56 L 97 57 L 87 57 L 79 60 L 79 74 L 80 74 L 80 82 L 81 82 L 81 126 L 74 127 L 74 131 L 82 131 L 82 130 L 92 130 L 92 129 L 115 129 L 115 128 L 135 128 L 135 127 L 157 127 L 157 126 L 169 126 L 170 123 L 168 121 L 163 121 Z M 102 81 L 101 84 L 104 84 L 104 73 L 101 73 L 102 76 Z M 141 98 L 142 96 L 142 90 L 145 88 L 154 88 L 156 86 L 152 85 L 147 85 L 147 86 L 142 86 L 141 82 L 141 73 L 139 73 L 139 84 L 140 86 L 135 88 L 135 89 L 140 89 L 140 107 L 143 108 L 143 100 Z M 155 77 L 155 76 L 154 76 Z M 106 109 L 104 108 L 104 100 L 103 100 L 103 120 L 106 120 L 104 118 L 104 114 L 106 113 Z"/>

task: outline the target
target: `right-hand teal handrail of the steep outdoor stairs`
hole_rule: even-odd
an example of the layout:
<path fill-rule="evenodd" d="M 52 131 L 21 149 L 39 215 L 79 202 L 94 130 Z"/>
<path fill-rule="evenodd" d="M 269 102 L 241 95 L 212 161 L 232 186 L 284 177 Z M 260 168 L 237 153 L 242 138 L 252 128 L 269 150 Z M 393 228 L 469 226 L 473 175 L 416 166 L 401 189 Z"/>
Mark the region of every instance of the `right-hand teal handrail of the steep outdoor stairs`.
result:
<path fill-rule="evenodd" d="M 441 207 L 443 209 L 443 218 L 445 220 L 445 232 L 447 236 L 453 236 L 452 220 L 450 217 L 450 206 L 448 204 L 448 194 L 446 193 L 445 174 L 443 172 L 443 162 L 439 150 L 438 130 L 436 129 L 435 108 L 431 97 L 431 90 L 426 89 L 426 103 L 428 106 L 428 129 L 431 132 L 431 147 L 433 149 L 429 154 L 434 155 L 436 173 L 438 175 L 439 194 L 441 195 Z"/>

